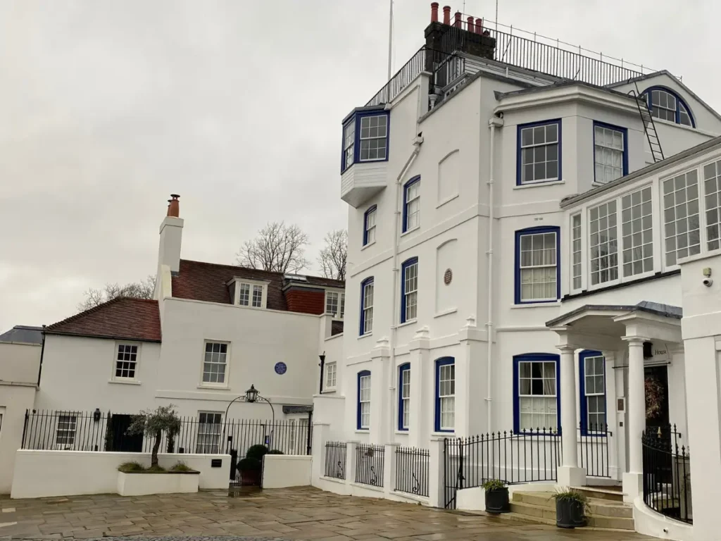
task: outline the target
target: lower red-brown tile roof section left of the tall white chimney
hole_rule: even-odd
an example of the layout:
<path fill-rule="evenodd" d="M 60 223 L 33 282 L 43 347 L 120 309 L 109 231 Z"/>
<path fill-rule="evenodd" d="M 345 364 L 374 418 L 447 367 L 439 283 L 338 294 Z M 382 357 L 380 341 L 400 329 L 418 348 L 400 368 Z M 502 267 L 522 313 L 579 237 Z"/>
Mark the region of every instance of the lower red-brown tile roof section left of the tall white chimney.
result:
<path fill-rule="evenodd" d="M 158 302 L 118 297 L 45 328 L 48 334 L 161 340 Z"/>

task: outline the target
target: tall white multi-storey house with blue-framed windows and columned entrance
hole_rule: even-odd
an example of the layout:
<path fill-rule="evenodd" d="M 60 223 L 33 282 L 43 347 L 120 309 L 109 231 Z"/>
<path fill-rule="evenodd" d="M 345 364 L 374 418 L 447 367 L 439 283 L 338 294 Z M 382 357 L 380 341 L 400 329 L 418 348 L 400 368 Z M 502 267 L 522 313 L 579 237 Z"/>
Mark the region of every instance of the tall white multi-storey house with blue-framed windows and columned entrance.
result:
<path fill-rule="evenodd" d="M 694 437 L 679 274 L 720 247 L 721 116 L 668 71 L 486 30 L 450 7 L 440 22 L 437 3 L 425 38 L 342 120 L 348 315 L 315 420 L 330 439 L 425 449 L 563 428 L 561 447 L 542 447 L 552 480 L 617 483 L 634 501 L 642 432 L 684 452 Z M 702 293 L 713 299 L 696 312 L 713 312 L 717 290 Z"/>

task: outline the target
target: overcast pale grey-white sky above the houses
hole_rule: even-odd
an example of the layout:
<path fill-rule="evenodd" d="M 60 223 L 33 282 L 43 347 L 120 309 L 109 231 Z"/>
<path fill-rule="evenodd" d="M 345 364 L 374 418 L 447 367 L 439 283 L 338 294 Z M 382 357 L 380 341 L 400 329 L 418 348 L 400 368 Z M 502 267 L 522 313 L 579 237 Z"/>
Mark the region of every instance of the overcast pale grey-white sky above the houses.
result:
<path fill-rule="evenodd" d="M 668 69 L 721 107 L 719 2 L 499 4 L 505 24 Z M 395 1 L 396 68 L 429 6 Z M 0 332 L 154 272 L 171 192 L 184 258 L 232 263 L 285 219 L 314 259 L 345 226 L 340 120 L 385 82 L 387 17 L 388 0 L 0 0 Z"/>

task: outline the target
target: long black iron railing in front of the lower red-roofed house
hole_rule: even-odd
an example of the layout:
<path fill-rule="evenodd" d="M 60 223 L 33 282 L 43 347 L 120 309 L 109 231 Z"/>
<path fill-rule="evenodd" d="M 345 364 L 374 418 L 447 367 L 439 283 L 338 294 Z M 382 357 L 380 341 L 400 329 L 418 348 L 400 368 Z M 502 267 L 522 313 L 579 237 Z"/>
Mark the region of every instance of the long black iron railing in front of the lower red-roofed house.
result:
<path fill-rule="evenodd" d="M 128 434 L 133 415 L 83 411 L 35 410 L 25 413 L 22 449 L 71 451 L 151 452 L 154 438 Z M 180 431 L 163 434 L 160 452 L 218 454 L 231 449 L 244 457 L 252 445 L 261 444 L 283 454 L 310 454 L 308 418 L 260 421 L 222 419 L 220 413 L 181 417 Z"/>

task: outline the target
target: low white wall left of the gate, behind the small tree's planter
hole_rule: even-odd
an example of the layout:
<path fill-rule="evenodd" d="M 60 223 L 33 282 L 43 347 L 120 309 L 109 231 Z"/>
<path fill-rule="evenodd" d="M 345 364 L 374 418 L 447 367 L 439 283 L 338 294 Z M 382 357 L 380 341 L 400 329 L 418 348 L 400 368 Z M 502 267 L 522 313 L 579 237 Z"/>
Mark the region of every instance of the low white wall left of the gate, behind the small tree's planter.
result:
<path fill-rule="evenodd" d="M 159 454 L 159 464 L 171 467 L 184 462 L 200 472 L 200 488 L 228 488 L 228 454 Z M 221 467 L 211 460 L 221 459 Z M 150 453 L 111 453 L 91 451 L 31 451 L 15 454 L 11 498 L 45 498 L 76 494 L 116 493 L 118 466 L 137 461 L 150 465 Z"/>

